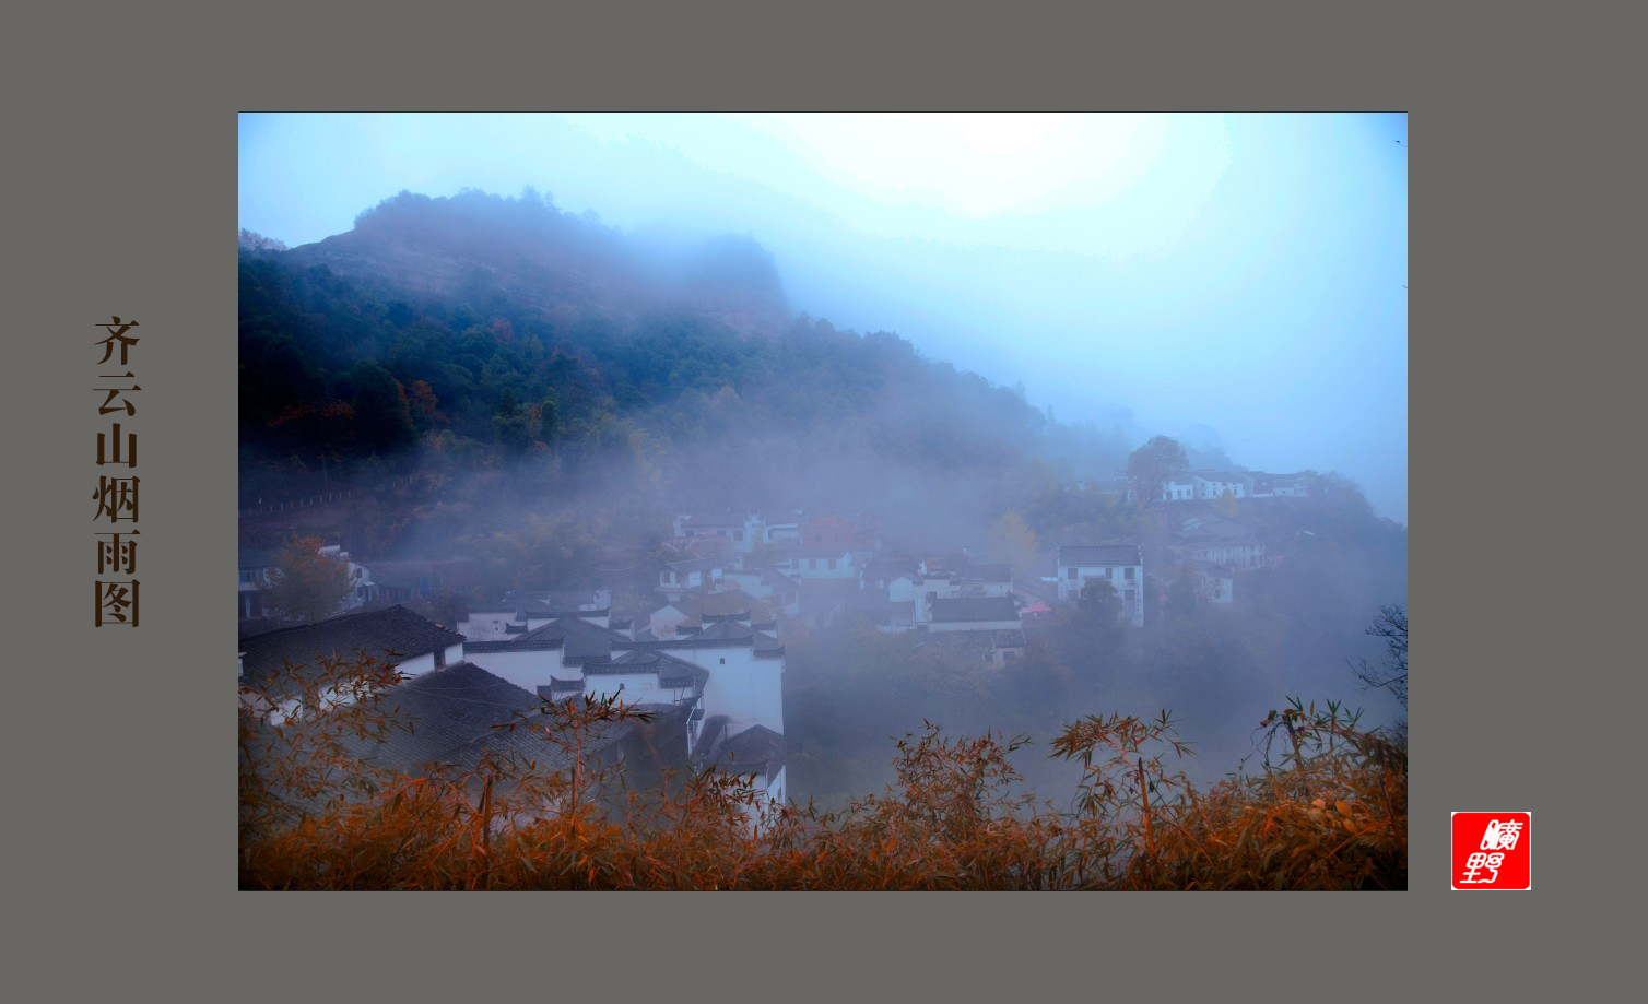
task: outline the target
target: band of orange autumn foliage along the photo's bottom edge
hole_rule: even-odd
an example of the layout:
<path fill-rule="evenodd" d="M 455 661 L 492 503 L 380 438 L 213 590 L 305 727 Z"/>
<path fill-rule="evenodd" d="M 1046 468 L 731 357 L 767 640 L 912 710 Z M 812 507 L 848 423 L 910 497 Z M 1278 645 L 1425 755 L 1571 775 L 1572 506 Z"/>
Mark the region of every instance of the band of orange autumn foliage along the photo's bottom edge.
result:
<path fill-rule="evenodd" d="M 300 687 L 387 686 L 368 659 Z M 320 691 L 313 691 L 318 694 Z M 321 709 L 316 702 L 313 707 Z M 279 729 L 241 711 L 242 889 L 1406 889 L 1406 753 L 1337 706 L 1294 702 L 1280 758 L 1198 791 L 1167 770 L 1173 722 L 1091 715 L 1053 742 L 1083 780 L 1068 809 L 1012 795 L 1025 739 L 897 744 L 898 780 L 839 813 L 763 808 L 748 775 L 684 770 L 654 790 L 587 762 L 616 701 L 545 704 L 532 729 L 570 767 L 488 757 L 456 775 L 348 753 L 396 727 L 372 701 Z"/>

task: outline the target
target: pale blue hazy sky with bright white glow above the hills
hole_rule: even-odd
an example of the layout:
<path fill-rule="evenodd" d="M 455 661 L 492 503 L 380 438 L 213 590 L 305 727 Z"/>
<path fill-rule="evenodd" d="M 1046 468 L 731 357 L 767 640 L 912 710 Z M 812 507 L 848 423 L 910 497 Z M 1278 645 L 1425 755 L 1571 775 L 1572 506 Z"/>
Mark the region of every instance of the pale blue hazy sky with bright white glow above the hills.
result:
<path fill-rule="evenodd" d="M 1398 145 L 1401 140 L 1402 145 Z M 1407 115 L 242 115 L 241 226 L 531 185 L 748 234 L 794 310 L 1407 523 Z"/>

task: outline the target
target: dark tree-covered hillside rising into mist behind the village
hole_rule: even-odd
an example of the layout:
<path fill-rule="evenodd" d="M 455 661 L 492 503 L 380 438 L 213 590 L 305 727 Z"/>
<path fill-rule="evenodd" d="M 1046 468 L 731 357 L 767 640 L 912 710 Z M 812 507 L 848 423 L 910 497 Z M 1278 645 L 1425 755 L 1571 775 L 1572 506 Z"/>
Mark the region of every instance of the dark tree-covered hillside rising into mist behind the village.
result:
<path fill-rule="evenodd" d="M 402 195 L 349 234 L 242 251 L 242 504 L 577 490 L 654 519 L 852 506 L 938 537 L 1124 463 L 1121 430 L 1053 425 L 1022 389 L 781 303 L 747 239 L 661 251 L 532 196 Z M 361 546 L 453 532 L 396 523 Z"/>

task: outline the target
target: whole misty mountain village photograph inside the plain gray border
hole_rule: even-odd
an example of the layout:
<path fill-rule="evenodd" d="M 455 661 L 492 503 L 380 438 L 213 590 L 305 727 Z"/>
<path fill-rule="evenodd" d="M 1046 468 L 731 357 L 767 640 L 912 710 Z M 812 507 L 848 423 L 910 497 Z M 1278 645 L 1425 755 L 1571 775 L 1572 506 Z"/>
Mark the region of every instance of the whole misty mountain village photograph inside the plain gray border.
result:
<path fill-rule="evenodd" d="M 1406 115 L 242 115 L 239 885 L 1407 887 Z"/>

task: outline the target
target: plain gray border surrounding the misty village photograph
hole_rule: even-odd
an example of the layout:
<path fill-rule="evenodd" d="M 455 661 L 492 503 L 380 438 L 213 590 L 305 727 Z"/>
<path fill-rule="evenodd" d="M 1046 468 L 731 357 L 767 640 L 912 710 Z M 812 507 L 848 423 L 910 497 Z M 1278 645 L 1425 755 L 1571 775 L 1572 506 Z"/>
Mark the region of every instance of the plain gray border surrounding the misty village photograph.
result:
<path fill-rule="evenodd" d="M 1574 498 L 1564 478 L 1575 460 L 1618 462 L 1607 443 L 1575 450 L 1582 420 L 1605 417 L 1594 411 L 1597 378 L 1580 379 L 1575 361 L 1589 348 L 1582 326 L 1623 321 L 1594 297 L 1559 310 L 1541 292 L 1561 282 L 1552 272 L 1566 264 L 1564 239 L 1597 251 L 1612 229 L 1610 206 L 1574 204 L 1600 188 L 1574 170 L 1599 97 L 1549 91 L 1559 77 L 1587 91 L 1617 82 L 1615 64 L 1589 48 L 1602 26 L 1590 25 L 1580 46 L 1575 21 L 1508 12 L 1473 21 L 1419 5 L 1350 16 L 1310 7 L 1290 20 L 1248 8 L 1150 18 L 1094 8 L 1086 23 L 959 5 L 865 18 L 845 7 L 747 5 L 742 18 L 714 21 L 697 5 L 555 8 L 541 20 L 438 10 L 412 20 L 405 10 L 288 3 L 166 23 L 152 10 L 63 10 L 54 23 L 18 25 L 13 79 L 36 91 L 20 92 L 28 107 L 7 157 L 25 303 L 10 368 L 23 402 L 13 414 L 25 419 L 13 419 L 25 472 L 13 580 L 26 597 L 12 818 L 26 829 L 20 894 L 38 917 L 40 951 L 25 955 L 46 961 L 73 948 L 101 963 L 58 969 L 59 988 L 193 984 L 257 997 L 302 973 L 300 984 L 371 986 L 374 997 L 402 986 L 476 992 L 494 979 L 549 989 L 562 978 L 618 979 L 625 996 L 641 984 L 691 996 L 707 951 L 784 994 L 867 983 L 934 994 L 956 986 L 967 997 L 1027 984 L 1099 992 L 1112 986 L 1107 973 L 1121 973 L 1180 996 L 1198 984 L 1229 989 L 1239 959 L 1252 964 L 1243 979 L 1264 992 L 1287 986 L 1284 973 L 1323 968 L 1381 984 L 1417 981 L 1430 966 L 1477 969 L 1485 951 L 1515 966 L 1518 946 L 1575 936 L 1569 918 L 1595 880 L 1579 872 L 1585 844 L 1569 809 L 1600 781 L 1559 755 L 1571 735 L 1559 725 L 1584 709 L 1556 720 L 1547 679 L 1608 656 L 1579 635 L 1592 607 L 1580 589 L 1623 587 L 1625 572 L 1599 570 L 1600 584 L 1575 584 L 1571 598 L 1515 584 L 1524 567 L 1516 547 L 1549 541 L 1541 529 Z M 475 36 L 460 45 L 466 31 Z M 1519 64 L 1534 46 L 1538 68 Z M 1571 61 L 1567 73 L 1552 59 Z M 1411 892 L 1332 897 L 1340 902 L 773 894 L 760 903 L 234 892 L 224 590 L 234 547 L 236 110 L 410 107 L 1412 110 L 1417 260 L 1435 265 L 1412 293 L 1421 676 Z M 1584 170 L 1617 165 L 1595 158 Z M 1557 191 L 1561 211 L 1549 206 Z M 87 389 L 97 356 L 82 338 L 109 313 L 137 317 L 133 333 L 145 338 L 132 356 L 143 386 L 132 429 L 142 442 L 145 623 L 129 636 L 94 631 L 84 598 L 96 577 L 86 496 L 101 425 Z M 1501 503 L 1467 491 L 1477 478 L 1546 465 L 1562 473 Z M 1556 546 L 1574 549 L 1571 539 Z M 1455 809 L 1534 813 L 1529 897 L 1449 890 Z M 1317 920 L 1323 908 L 1328 923 Z M 653 964 L 610 968 L 585 951 L 611 925 L 651 945 Z"/>

